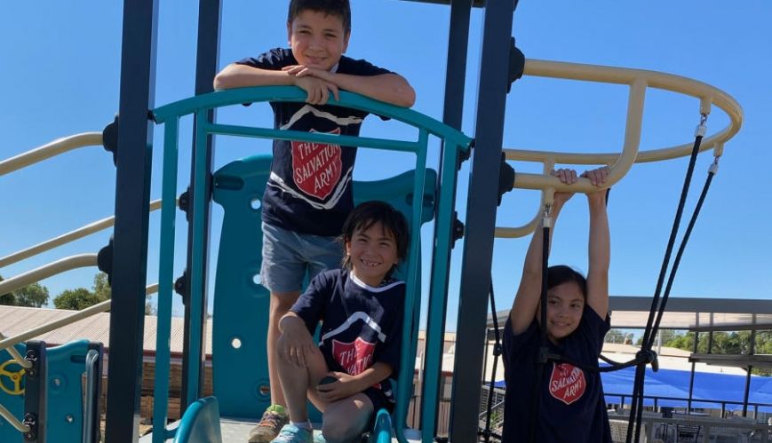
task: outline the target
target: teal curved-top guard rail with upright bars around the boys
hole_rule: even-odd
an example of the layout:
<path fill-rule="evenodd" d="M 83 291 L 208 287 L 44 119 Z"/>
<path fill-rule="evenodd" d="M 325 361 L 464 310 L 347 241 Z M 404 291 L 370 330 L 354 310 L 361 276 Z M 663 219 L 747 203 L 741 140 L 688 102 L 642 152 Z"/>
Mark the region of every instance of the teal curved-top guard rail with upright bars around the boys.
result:
<path fill-rule="evenodd" d="M 209 172 L 207 165 L 202 159 L 206 158 L 203 152 L 200 150 L 206 146 L 205 139 L 211 135 L 237 135 L 246 137 L 257 138 L 273 138 L 273 139 L 292 139 L 311 141 L 315 143 L 329 143 L 340 146 L 359 146 L 359 147 L 375 147 L 381 149 L 390 149 L 394 151 L 410 152 L 416 155 L 416 181 L 413 188 L 414 195 L 421 195 L 424 192 L 424 177 L 426 173 L 426 151 L 429 134 L 432 134 L 438 138 L 444 140 L 445 154 L 442 158 L 442 170 L 455 170 L 456 158 L 459 151 L 467 151 L 471 144 L 472 139 L 449 126 L 446 126 L 434 119 L 421 115 L 416 111 L 404 107 L 395 107 L 388 105 L 373 99 L 364 98 L 358 94 L 351 92 L 341 91 L 340 100 L 330 99 L 329 105 L 336 105 L 341 107 L 350 107 L 354 109 L 360 109 L 364 112 L 380 115 L 383 117 L 389 117 L 395 121 L 407 123 L 412 125 L 418 132 L 417 140 L 415 141 L 403 141 L 397 139 L 381 139 L 381 138 L 362 138 L 352 137 L 346 135 L 327 134 L 322 132 L 305 132 L 305 131 L 285 131 L 283 129 L 267 129 L 267 128 L 254 128 L 235 126 L 211 122 L 208 115 L 208 111 L 219 107 L 226 107 L 232 105 L 241 105 L 243 103 L 262 102 L 262 101 L 288 101 L 288 102 L 303 102 L 306 100 L 306 92 L 300 90 L 297 87 L 292 86 L 259 86 L 251 88 L 239 88 L 227 91 L 217 91 L 208 94 L 195 96 L 190 99 L 179 100 L 178 102 L 158 107 L 153 111 L 155 122 L 164 123 L 164 135 L 163 135 L 163 202 L 169 202 L 176 194 L 177 188 L 177 170 L 178 170 L 178 152 L 179 152 L 179 119 L 184 115 L 194 115 L 196 122 L 195 131 L 195 152 L 193 157 L 196 159 L 194 165 L 192 165 L 193 183 L 205 183 L 206 175 Z M 450 153 L 450 154 L 448 154 Z M 444 176 L 444 175 L 443 175 Z M 456 189 L 456 175 L 447 174 L 447 177 L 442 178 L 441 192 L 438 198 L 439 209 L 436 210 L 438 214 L 451 214 L 452 204 Z M 193 265 L 190 271 L 191 287 L 201 288 L 203 277 L 203 239 L 204 223 L 203 223 L 203 208 L 205 205 L 204 193 L 193 192 L 195 199 L 191 204 L 192 217 L 190 225 L 192 226 L 192 245 L 190 246 L 191 254 L 194 258 Z M 171 319 L 171 297 L 167 297 L 171 293 L 171 273 L 173 271 L 173 253 L 174 253 L 174 213 L 171 207 L 167 207 L 163 203 L 163 210 L 161 215 L 161 246 L 159 260 L 159 280 L 161 281 L 161 288 L 159 289 L 159 303 L 158 303 L 158 329 L 156 334 L 156 376 L 159 374 L 166 374 L 168 372 L 168 359 L 169 359 L 169 335 L 170 335 L 170 319 Z M 422 204 L 419 199 L 414 199 L 412 202 L 412 218 L 411 218 L 411 231 L 414 233 L 420 232 L 421 229 L 421 212 Z M 438 257 L 450 257 L 450 237 L 451 226 L 450 216 L 442 216 L 438 218 L 435 226 L 434 238 L 443 239 L 440 241 L 442 244 L 434 250 L 433 259 L 433 280 L 434 281 L 447 281 L 447 270 L 442 270 L 440 267 L 446 260 L 445 258 L 437 259 Z M 445 244 L 444 239 L 447 239 Z M 420 302 L 420 292 L 411 294 L 413 289 L 418 286 L 418 235 L 415 235 L 410 240 L 410 258 L 409 262 L 414 264 L 410 271 L 407 273 L 407 287 L 408 294 L 414 297 L 406 297 L 405 307 L 402 324 L 403 336 L 408 336 L 411 333 L 413 327 L 412 316 L 418 312 L 414 309 L 414 304 Z M 436 304 L 440 297 L 444 299 L 444 289 L 440 289 L 441 285 L 431 285 L 431 300 L 430 305 Z M 442 292 L 442 293 L 440 293 Z M 191 291 L 189 304 L 192 306 L 191 317 L 197 317 L 196 310 L 200 309 L 201 294 L 200 289 Z M 416 300 L 418 299 L 418 301 Z M 430 308 L 431 311 L 431 308 Z M 189 336 L 192 337 L 191 349 L 199 349 L 197 341 L 200 336 L 200 325 L 194 323 L 191 324 Z M 442 344 L 439 344 L 440 346 Z M 426 365 L 433 365 L 432 367 L 439 368 L 442 357 L 442 352 L 434 352 L 433 344 L 430 344 L 430 351 L 427 352 Z M 408 347 L 402 347 L 402 354 L 406 354 L 409 351 Z M 191 360 L 195 360 L 196 356 L 191 355 Z M 163 362 L 166 363 L 163 363 Z M 407 368 L 408 359 L 403 357 L 401 365 L 405 368 L 400 368 L 400 377 L 412 374 L 412 368 Z M 196 380 L 199 376 L 195 368 L 191 369 L 189 374 L 191 383 L 189 387 L 195 387 Z M 158 383 L 155 384 L 155 401 L 156 404 L 166 404 L 168 402 L 168 386 L 166 381 L 163 380 L 163 376 L 156 377 Z M 436 378 L 436 376 L 434 376 Z M 439 382 L 426 381 L 427 385 L 436 384 L 439 386 Z M 399 394 L 397 398 L 409 398 L 407 390 L 410 383 L 398 383 L 397 388 Z M 195 392 L 186 392 L 183 394 L 187 398 L 192 399 L 195 396 Z M 427 395 L 426 398 L 432 397 Z M 394 426 L 394 432 L 399 441 L 406 441 L 404 436 L 404 416 L 407 414 L 407 403 L 397 402 L 396 405 L 396 423 Z M 422 415 L 426 417 L 426 420 L 434 420 L 434 416 L 429 414 Z M 156 423 L 166 422 L 166 408 L 156 407 L 154 421 Z M 428 429 L 428 428 L 426 428 Z M 161 429 L 156 436 L 154 432 L 154 441 L 163 441 L 165 427 Z"/>

